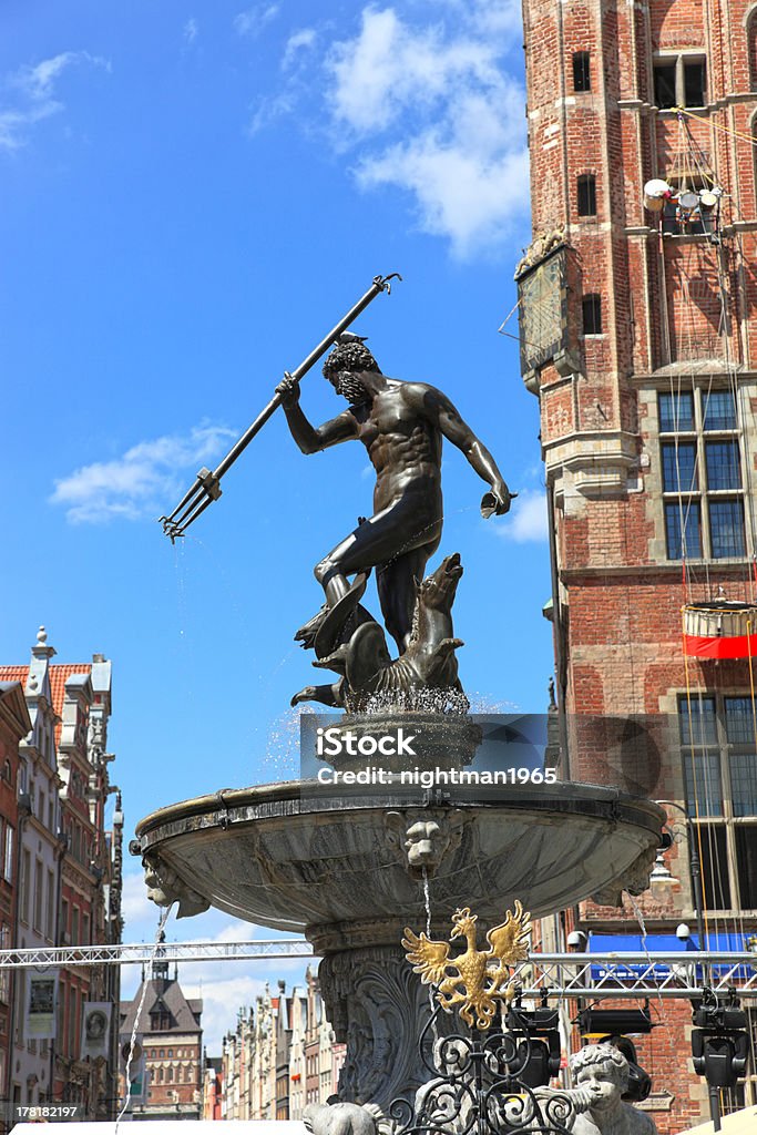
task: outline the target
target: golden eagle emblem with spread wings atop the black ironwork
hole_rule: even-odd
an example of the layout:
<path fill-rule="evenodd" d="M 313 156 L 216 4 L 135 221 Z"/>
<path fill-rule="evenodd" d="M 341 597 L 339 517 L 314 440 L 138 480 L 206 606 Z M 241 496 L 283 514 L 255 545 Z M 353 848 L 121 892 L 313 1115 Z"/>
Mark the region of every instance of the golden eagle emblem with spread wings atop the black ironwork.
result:
<path fill-rule="evenodd" d="M 497 1001 L 510 1003 L 513 999 L 510 972 L 528 958 L 531 916 L 515 899 L 515 910 L 508 910 L 504 923 L 487 934 L 488 950 L 476 948 L 477 919 L 470 907 L 463 907 L 452 916 L 449 943 L 434 942 L 426 934 L 419 938 L 406 926 L 402 944 L 421 981 L 438 986 L 436 997 L 441 1008 L 452 1012 L 453 1006 L 460 1004 L 463 1020 L 485 1029 L 494 1019 Z M 449 945 L 455 938 L 464 938 L 468 945 L 463 953 L 451 958 Z"/>

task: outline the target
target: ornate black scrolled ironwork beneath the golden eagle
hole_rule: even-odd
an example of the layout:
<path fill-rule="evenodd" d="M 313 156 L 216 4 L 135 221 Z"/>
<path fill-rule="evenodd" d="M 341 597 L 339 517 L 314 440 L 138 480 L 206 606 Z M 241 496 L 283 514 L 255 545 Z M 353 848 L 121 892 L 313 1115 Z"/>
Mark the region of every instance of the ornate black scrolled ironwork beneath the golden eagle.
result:
<path fill-rule="evenodd" d="M 542 1041 L 522 1029 L 438 1035 L 441 1008 L 419 1037 L 431 1075 L 411 1102 L 392 1102 L 395 1135 L 570 1135 L 575 1093 L 525 1082 Z"/>

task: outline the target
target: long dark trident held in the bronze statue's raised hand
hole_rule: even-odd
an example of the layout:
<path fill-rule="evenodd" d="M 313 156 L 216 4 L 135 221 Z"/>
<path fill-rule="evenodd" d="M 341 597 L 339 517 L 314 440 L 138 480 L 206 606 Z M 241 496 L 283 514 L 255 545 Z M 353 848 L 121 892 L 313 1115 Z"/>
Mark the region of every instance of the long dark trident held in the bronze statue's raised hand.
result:
<path fill-rule="evenodd" d="M 308 373 L 311 367 L 318 362 L 321 355 L 326 354 L 328 348 L 338 343 L 342 331 L 350 327 L 358 316 L 365 310 L 369 303 L 376 299 L 381 292 L 386 292 L 387 295 L 392 292 L 392 280 L 402 279 L 399 272 L 392 272 L 389 276 L 377 276 L 373 283 L 369 287 L 364 296 L 362 296 L 354 308 L 351 308 L 344 319 L 334 327 L 328 335 L 321 339 L 318 346 L 310 352 L 308 358 L 300 363 L 296 370 L 289 373 L 295 381 Z M 211 473 L 209 469 L 201 469 L 197 473 L 197 478 L 190 489 L 190 491 L 182 497 L 179 503 L 174 508 L 170 516 L 161 516 L 160 523 L 163 526 L 163 532 L 166 536 L 170 537 L 171 544 L 175 543 L 177 537 L 184 536 L 190 524 L 197 519 L 201 512 L 204 512 L 209 504 L 213 501 L 218 501 L 221 495 L 220 479 L 224 473 L 232 468 L 237 457 L 239 457 L 244 451 L 247 448 L 252 442 L 255 434 L 258 434 L 271 414 L 280 406 L 281 395 L 275 394 L 268 405 L 261 410 L 261 412 L 255 418 L 252 426 L 247 427 L 245 432 L 242 435 L 239 440 L 229 449 L 220 465 L 215 469 Z"/>

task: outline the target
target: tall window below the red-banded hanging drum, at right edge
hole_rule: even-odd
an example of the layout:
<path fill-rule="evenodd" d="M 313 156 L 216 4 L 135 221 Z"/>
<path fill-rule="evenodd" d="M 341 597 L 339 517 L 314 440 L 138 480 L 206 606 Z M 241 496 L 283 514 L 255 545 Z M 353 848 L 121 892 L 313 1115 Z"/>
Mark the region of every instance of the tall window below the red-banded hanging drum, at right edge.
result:
<path fill-rule="evenodd" d="M 705 907 L 757 909 L 757 737 L 751 697 L 679 699 L 687 807 Z"/>

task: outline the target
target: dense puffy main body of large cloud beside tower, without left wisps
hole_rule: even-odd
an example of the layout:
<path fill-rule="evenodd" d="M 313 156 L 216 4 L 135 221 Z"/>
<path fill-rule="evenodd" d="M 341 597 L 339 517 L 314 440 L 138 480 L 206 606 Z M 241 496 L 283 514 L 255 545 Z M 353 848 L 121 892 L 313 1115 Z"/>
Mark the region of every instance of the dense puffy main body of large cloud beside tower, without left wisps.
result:
<path fill-rule="evenodd" d="M 359 34 L 326 60 L 327 102 L 358 184 L 410 193 L 421 229 L 468 257 L 527 216 L 524 94 L 503 64 L 514 6 L 478 2 L 469 19 L 446 8 L 460 20 L 413 26 L 394 8 L 363 9 Z"/>

